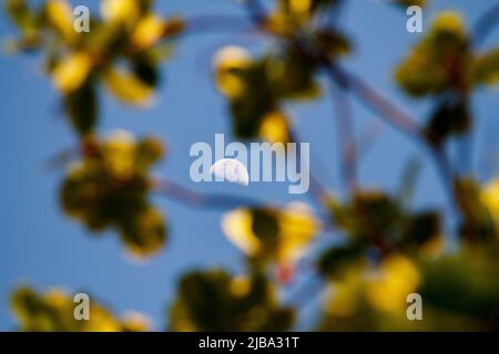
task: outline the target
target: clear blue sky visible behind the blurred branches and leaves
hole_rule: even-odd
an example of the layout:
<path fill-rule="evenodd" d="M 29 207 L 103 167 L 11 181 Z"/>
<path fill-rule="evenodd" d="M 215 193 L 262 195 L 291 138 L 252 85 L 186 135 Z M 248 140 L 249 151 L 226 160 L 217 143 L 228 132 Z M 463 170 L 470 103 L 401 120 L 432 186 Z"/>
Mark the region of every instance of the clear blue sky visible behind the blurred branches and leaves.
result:
<path fill-rule="evenodd" d="M 163 14 L 243 14 L 241 8 L 228 0 L 156 2 Z M 424 116 L 430 105 L 404 96 L 396 90 L 390 75 L 390 67 L 420 34 L 405 30 L 406 17 L 401 11 L 374 0 L 350 2 L 342 19 L 356 45 L 348 67 L 415 115 Z M 431 2 L 425 11 L 425 28 L 440 10 L 461 10 L 468 23 L 472 23 L 485 9 L 497 3 L 495 0 Z M 73 4 L 91 3 L 94 7 L 94 1 L 73 1 Z M 12 30 L 2 13 L 0 38 L 11 35 Z M 156 173 L 196 190 L 247 195 L 281 202 L 296 200 L 296 197 L 287 195 L 287 186 L 283 184 L 255 184 L 243 188 L 196 185 L 190 180 L 191 145 L 196 142 L 213 144 L 215 133 L 230 133 L 226 105 L 214 90 L 210 72 L 211 55 L 223 44 L 255 48 L 257 41 L 235 33 L 186 39 L 177 46 L 173 60 L 164 65 L 165 80 L 156 105 L 146 111 L 129 108 L 106 96 L 100 132 L 106 134 L 114 128 L 125 128 L 139 135 L 154 133 L 162 136 L 167 143 L 169 156 L 157 166 Z M 486 44 L 499 44 L 498 32 Z M 112 231 L 91 235 L 65 218 L 57 198 L 62 171 L 41 168 L 48 158 L 74 142 L 58 111 L 58 95 L 43 76 L 40 58 L 35 55 L 1 54 L 0 77 L 0 330 L 14 327 L 9 293 L 21 282 L 29 282 L 39 290 L 51 285 L 70 291 L 82 290 L 109 304 L 116 313 L 126 310 L 144 312 L 152 317 L 156 329 L 162 329 L 176 281 L 184 271 L 214 266 L 237 269 L 241 266 L 240 252 L 220 229 L 222 214 L 218 211 L 194 210 L 163 197 L 154 197 L 154 202 L 170 220 L 171 237 L 165 250 L 145 264 L 128 260 Z M 480 148 L 496 154 L 499 150 L 498 100 L 497 91 L 483 91 L 475 100 Z M 319 178 L 340 195 L 332 103 L 325 97 L 288 108 L 296 118 L 302 140 L 310 142 L 314 155 L 320 157 L 313 157 L 312 169 L 322 160 L 324 169 L 330 173 L 323 169 L 318 173 Z M 359 127 L 376 122 L 370 112 L 358 105 L 355 105 L 355 116 Z M 397 133 L 384 129 L 363 159 L 363 183 L 394 190 L 404 164 L 416 153 L 415 147 Z M 480 166 L 481 155 L 479 150 L 477 166 Z M 489 169 L 490 173 L 493 169 Z M 482 174 L 481 177 L 490 175 Z M 425 163 L 417 195 L 417 207 L 445 206 L 438 178 L 429 164 Z"/>

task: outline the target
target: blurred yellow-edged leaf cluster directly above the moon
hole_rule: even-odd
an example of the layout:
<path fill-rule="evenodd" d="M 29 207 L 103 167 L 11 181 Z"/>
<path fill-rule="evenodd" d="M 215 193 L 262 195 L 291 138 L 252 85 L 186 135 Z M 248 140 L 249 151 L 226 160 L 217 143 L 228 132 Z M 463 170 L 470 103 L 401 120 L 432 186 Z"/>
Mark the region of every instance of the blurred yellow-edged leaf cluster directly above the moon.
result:
<path fill-rule="evenodd" d="M 287 143 L 288 118 L 281 113 L 284 100 L 315 97 L 319 87 L 314 69 L 297 52 L 252 59 L 241 48 L 228 46 L 215 56 L 218 90 L 230 100 L 237 137 L 266 137 Z"/>

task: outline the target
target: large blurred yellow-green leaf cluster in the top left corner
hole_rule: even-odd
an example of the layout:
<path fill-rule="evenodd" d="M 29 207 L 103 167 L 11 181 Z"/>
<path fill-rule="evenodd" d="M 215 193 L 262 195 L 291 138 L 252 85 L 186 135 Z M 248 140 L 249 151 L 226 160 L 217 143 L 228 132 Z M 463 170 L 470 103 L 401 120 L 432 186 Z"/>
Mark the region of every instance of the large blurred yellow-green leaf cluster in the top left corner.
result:
<path fill-rule="evenodd" d="M 8 0 L 6 8 L 20 31 L 9 49 L 44 52 L 45 71 L 81 135 L 93 132 L 98 123 L 100 83 L 125 104 L 151 104 L 159 64 L 170 53 L 160 40 L 184 28 L 180 18 L 155 15 L 151 0 L 103 0 L 100 19 L 92 17 L 91 31 L 84 33 L 74 31 L 65 0 L 48 0 L 37 8 L 27 0 Z"/>

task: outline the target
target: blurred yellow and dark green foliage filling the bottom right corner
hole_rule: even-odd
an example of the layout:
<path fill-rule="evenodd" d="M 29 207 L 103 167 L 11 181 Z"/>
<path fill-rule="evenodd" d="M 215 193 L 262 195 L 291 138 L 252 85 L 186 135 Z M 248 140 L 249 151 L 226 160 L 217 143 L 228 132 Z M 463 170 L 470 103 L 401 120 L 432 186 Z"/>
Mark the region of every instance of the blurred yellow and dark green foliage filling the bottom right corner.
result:
<path fill-rule="evenodd" d="M 322 331 L 497 331 L 497 244 L 457 254 L 367 259 L 332 278 Z M 416 263 L 415 263 L 416 262 Z M 422 321 L 408 321 L 406 298 L 422 298 Z"/>

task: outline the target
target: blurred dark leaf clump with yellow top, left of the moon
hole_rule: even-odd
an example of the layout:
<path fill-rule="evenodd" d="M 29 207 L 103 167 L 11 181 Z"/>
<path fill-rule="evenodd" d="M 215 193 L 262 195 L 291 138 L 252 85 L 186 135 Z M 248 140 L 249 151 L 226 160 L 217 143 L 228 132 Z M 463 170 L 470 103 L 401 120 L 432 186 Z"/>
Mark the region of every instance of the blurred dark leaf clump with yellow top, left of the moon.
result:
<path fill-rule="evenodd" d="M 147 194 L 149 169 L 162 155 L 161 142 L 152 137 L 135 140 L 126 132 L 105 140 L 89 137 L 82 159 L 70 165 L 61 187 L 64 211 L 92 231 L 116 229 L 133 256 L 159 251 L 166 223 Z"/>

